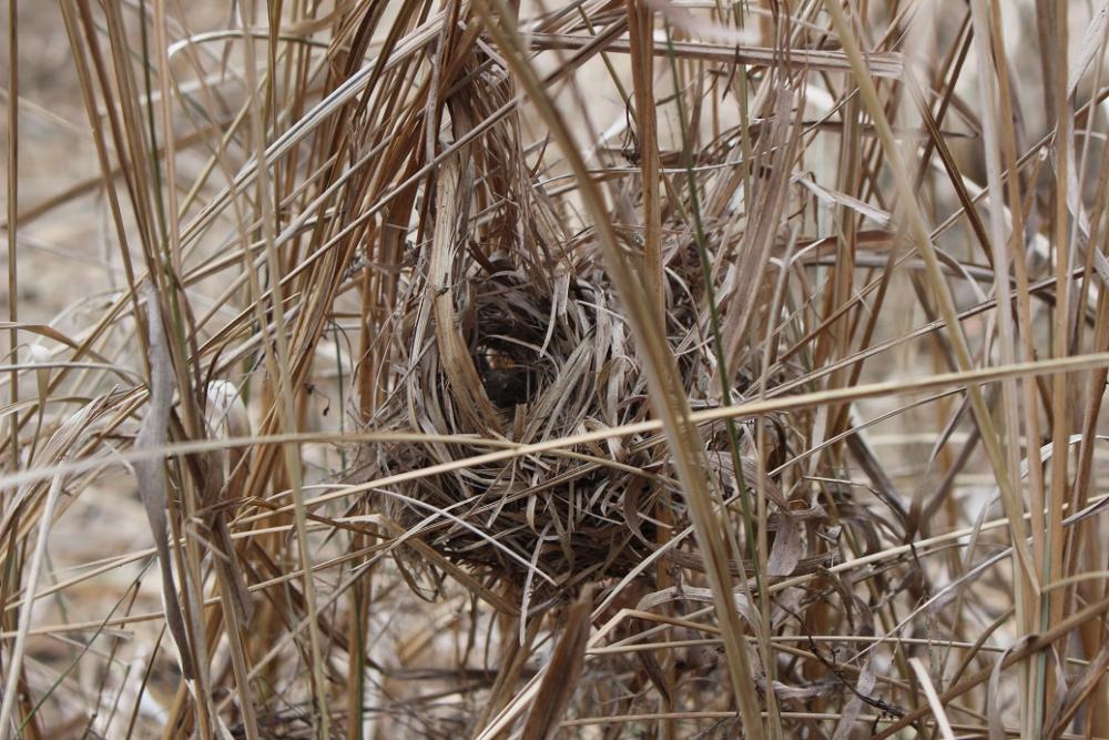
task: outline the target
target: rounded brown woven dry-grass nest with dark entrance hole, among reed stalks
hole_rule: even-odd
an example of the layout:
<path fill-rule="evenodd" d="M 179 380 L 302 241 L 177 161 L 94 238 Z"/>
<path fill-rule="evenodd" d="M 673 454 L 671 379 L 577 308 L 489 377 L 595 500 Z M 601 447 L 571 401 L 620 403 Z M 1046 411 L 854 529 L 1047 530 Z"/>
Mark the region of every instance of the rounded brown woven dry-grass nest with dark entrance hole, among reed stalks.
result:
<path fill-rule="evenodd" d="M 404 392 L 386 407 L 390 426 L 531 444 L 650 418 L 647 382 L 618 296 L 590 245 L 569 249 L 578 261 L 563 254 L 557 264 L 574 272 L 556 270 L 541 278 L 536 265 L 513 264 L 507 254 L 476 259 L 472 250 L 458 249 L 449 288 L 429 277 L 437 266 L 429 256 L 431 268 L 417 272 L 410 286 L 420 297 L 401 322 L 406 335 L 399 342 L 413 355 L 399 371 Z M 684 274 L 699 270 L 695 260 L 671 260 L 669 323 L 686 391 L 706 398 L 712 345 L 696 328 L 698 278 Z M 436 326 L 437 318 L 449 322 L 449 330 Z M 720 427 L 706 429 L 706 438 L 711 473 L 730 496 L 736 483 L 728 437 Z M 375 467 L 384 475 L 491 450 L 477 439 L 378 449 Z M 401 526 L 419 527 L 423 541 L 451 561 L 557 598 L 640 565 L 657 547 L 660 503 L 679 530 L 689 524 L 660 436 L 618 437 L 573 452 L 419 477 L 397 488 L 403 499 L 389 497 L 384 505 Z M 749 487 L 753 477 L 747 469 Z M 436 516 L 438 510 L 450 517 Z M 690 547 L 692 540 L 667 557 L 700 569 Z M 399 560 L 426 567 L 426 558 Z"/>

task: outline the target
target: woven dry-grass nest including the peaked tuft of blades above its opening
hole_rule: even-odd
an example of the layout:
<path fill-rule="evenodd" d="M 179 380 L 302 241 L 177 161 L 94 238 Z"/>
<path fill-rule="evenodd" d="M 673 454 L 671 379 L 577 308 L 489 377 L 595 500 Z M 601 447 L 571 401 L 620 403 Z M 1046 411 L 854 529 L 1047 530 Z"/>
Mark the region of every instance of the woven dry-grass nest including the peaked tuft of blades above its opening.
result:
<path fill-rule="evenodd" d="M 482 120 L 509 92 L 489 83 L 481 94 L 451 100 L 455 140 L 467 133 L 467 121 Z M 408 245 L 413 267 L 401 286 L 408 298 L 389 337 L 399 348 L 391 362 L 397 379 L 372 420 L 375 429 L 468 436 L 474 444 L 375 446 L 374 475 L 471 458 L 496 449 L 489 440 L 503 448 L 652 417 L 621 302 L 589 224 L 577 215 L 573 189 L 546 190 L 527 154 L 506 121 L 437 171 L 433 202 L 416 230 L 424 239 Z M 622 186 L 630 190 L 618 197 L 635 204 L 639 180 L 628 181 Z M 688 196 L 684 189 L 676 192 Z M 663 217 L 672 221 L 663 231 L 673 234 L 664 244 L 667 333 L 688 397 L 703 406 L 720 403 L 720 394 L 688 213 L 684 203 L 663 205 Z M 641 249 L 635 229 L 621 237 L 630 251 Z M 767 297 L 771 292 L 767 285 Z M 744 376 L 735 369 L 734 377 Z M 722 426 L 705 428 L 704 436 L 710 474 L 731 496 L 736 480 L 729 438 Z M 689 525 L 661 435 L 613 437 L 568 452 L 420 476 L 396 487 L 396 496 L 383 495 L 380 506 L 449 561 L 541 598 L 627 575 L 657 548 L 659 516 L 674 531 Z M 665 557 L 700 569 L 692 547 L 689 538 Z M 409 564 L 429 567 L 427 558 Z"/>

